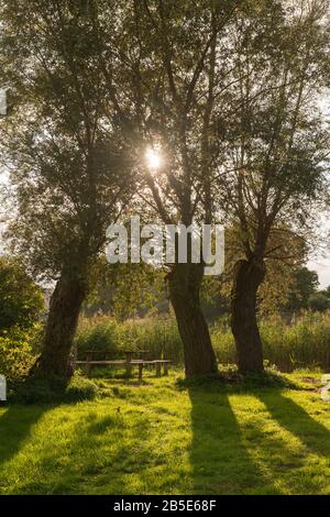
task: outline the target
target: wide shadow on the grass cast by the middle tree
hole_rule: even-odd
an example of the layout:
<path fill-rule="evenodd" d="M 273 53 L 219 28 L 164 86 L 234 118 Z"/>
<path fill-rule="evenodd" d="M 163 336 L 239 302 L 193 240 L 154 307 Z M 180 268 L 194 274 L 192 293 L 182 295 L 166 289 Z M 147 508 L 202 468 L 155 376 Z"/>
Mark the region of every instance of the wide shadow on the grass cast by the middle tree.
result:
<path fill-rule="evenodd" d="M 253 463 L 226 393 L 190 388 L 195 494 L 277 494 Z"/>

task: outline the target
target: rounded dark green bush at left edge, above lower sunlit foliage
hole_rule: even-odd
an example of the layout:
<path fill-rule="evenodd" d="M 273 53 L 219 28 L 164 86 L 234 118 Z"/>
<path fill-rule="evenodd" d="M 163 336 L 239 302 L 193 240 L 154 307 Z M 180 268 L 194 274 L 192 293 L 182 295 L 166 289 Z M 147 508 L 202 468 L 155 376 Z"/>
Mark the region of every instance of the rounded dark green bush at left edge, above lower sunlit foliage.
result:
<path fill-rule="evenodd" d="M 0 258 L 0 333 L 12 327 L 29 328 L 44 310 L 41 288 L 18 261 Z"/>

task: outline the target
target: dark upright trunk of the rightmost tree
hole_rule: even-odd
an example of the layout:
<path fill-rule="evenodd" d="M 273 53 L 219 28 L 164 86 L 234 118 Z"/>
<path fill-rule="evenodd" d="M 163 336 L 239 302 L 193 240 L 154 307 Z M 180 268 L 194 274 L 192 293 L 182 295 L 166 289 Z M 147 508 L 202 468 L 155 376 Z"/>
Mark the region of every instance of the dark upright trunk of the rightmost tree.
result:
<path fill-rule="evenodd" d="M 239 261 L 234 268 L 231 298 L 231 329 L 235 339 L 238 366 L 242 372 L 262 372 L 263 348 L 256 322 L 256 294 L 265 276 L 263 261 Z"/>

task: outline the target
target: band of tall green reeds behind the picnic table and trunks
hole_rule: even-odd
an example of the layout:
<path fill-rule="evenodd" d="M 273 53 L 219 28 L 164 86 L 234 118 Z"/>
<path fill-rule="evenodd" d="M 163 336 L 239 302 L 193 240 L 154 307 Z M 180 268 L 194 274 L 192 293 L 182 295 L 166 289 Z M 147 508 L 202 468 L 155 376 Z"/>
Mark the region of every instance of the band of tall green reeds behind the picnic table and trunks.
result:
<path fill-rule="evenodd" d="M 278 316 L 260 322 L 267 364 L 283 372 L 301 367 L 330 367 L 330 312 L 306 312 L 290 324 Z M 226 317 L 211 326 L 211 338 L 220 364 L 235 363 L 234 339 Z M 127 350 L 148 351 L 148 356 L 166 358 L 183 364 L 183 344 L 173 318 L 146 318 L 118 322 L 100 316 L 85 318 L 78 328 L 76 345 L 78 356 L 87 350 L 109 353 L 122 359 Z"/>

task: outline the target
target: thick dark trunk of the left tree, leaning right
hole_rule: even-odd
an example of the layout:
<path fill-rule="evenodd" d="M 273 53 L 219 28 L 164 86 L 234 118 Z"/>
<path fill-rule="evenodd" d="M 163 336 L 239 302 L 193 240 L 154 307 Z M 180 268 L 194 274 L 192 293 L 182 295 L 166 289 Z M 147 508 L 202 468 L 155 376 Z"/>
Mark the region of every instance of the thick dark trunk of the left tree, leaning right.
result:
<path fill-rule="evenodd" d="M 69 356 L 81 305 L 87 295 L 84 275 L 63 273 L 51 297 L 44 348 L 37 372 L 70 376 Z"/>

